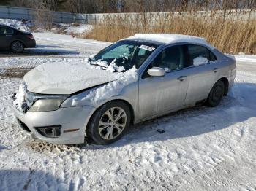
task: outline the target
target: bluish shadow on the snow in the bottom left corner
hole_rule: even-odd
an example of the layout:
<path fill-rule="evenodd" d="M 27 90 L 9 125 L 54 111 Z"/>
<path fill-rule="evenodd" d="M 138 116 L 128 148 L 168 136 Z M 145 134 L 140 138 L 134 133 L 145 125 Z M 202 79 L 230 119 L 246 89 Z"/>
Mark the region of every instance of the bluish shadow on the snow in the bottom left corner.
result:
<path fill-rule="evenodd" d="M 72 190 L 67 184 L 48 171 L 0 170 L 0 190 Z"/>

